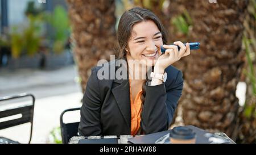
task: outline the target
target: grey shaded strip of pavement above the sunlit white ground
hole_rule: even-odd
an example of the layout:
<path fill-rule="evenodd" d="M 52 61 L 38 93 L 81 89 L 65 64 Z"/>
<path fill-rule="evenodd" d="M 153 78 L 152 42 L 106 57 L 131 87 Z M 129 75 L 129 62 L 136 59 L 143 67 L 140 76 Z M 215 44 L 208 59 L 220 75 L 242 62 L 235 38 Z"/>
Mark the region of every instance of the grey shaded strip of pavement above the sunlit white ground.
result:
<path fill-rule="evenodd" d="M 76 78 L 77 69 L 73 65 L 57 70 L 0 69 L 0 96 L 28 92 L 42 98 L 81 91 Z"/>

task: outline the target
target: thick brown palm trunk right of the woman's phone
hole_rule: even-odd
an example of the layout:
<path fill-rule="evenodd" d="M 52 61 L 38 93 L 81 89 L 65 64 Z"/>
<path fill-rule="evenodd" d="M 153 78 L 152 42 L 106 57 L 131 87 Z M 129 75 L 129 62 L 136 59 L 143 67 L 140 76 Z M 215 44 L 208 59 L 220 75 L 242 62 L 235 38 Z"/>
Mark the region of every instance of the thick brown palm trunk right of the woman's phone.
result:
<path fill-rule="evenodd" d="M 185 58 L 183 120 L 185 124 L 232 135 L 238 127 L 236 86 L 241 77 L 243 20 L 247 1 L 188 1 L 193 20 L 190 40 L 199 51 Z"/>

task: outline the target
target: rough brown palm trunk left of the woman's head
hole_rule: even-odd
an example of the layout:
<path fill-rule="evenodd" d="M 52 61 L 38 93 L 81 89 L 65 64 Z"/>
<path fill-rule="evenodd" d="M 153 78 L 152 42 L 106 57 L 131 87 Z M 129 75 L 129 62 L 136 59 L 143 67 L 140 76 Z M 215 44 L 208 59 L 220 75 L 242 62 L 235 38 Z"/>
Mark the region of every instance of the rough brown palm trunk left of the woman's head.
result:
<path fill-rule="evenodd" d="M 90 69 L 98 60 L 110 60 L 116 47 L 114 0 L 67 0 L 72 23 L 72 42 L 82 92 Z"/>

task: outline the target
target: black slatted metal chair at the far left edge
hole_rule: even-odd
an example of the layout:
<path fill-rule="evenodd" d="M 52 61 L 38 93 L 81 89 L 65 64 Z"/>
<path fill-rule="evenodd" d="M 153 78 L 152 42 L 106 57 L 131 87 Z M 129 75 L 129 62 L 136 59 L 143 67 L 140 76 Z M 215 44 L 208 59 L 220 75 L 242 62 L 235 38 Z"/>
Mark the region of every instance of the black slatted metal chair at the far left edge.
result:
<path fill-rule="evenodd" d="M 24 105 L 19 105 L 19 106 L 15 106 L 15 107 L 9 107 L 9 108 L 2 109 L 2 110 L 0 109 L 0 119 L 21 114 L 20 118 L 0 122 L 0 130 L 5 129 L 5 128 L 14 127 L 16 125 L 20 125 L 20 124 L 24 124 L 24 123 L 31 123 L 30 138 L 28 141 L 28 143 L 30 143 L 31 138 L 32 138 L 32 130 L 33 130 L 34 105 L 35 105 L 34 95 L 22 93 L 22 94 L 18 94 L 18 95 L 0 97 L 0 102 L 6 101 L 6 100 L 11 100 L 11 99 L 25 98 L 25 97 L 31 97 L 32 104 L 24 104 Z M 13 141 L 13 140 L 7 139 L 5 137 L 0 137 L 0 141 L 1 141 L 1 143 L 19 143 L 18 141 Z"/>

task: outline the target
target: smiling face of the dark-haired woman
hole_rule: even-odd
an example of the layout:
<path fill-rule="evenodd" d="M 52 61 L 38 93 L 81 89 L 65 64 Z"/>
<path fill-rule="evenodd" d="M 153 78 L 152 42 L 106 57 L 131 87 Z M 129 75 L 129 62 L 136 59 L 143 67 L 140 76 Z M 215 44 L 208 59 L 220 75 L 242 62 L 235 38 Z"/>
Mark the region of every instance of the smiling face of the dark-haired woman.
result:
<path fill-rule="evenodd" d="M 131 38 L 128 41 L 127 60 L 146 60 L 147 65 L 154 65 L 161 54 L 161 45 L 163 45 L 162 33 L 152 20 L 137 23 L 133 26 Z M 148 64 L 148 62 L 151 63 Z"/>

